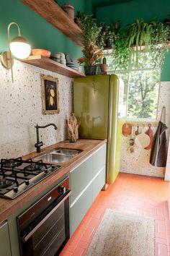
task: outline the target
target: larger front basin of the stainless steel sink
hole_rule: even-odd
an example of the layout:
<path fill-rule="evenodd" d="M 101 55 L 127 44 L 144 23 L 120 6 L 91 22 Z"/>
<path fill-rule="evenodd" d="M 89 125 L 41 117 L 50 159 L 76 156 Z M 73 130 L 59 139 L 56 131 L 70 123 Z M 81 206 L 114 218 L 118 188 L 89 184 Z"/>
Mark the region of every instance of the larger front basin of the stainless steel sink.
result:
<path fill-rule="evenodd" d="M 47 161 L 47 162 L 67 162 L 72 158 L 72 155 L 61 155 L 61 154 L 56 154 L 56 153 L 47 153 L 44 155 L 40 155 L 35 160 L 42 160 L 42 161 Z"/>

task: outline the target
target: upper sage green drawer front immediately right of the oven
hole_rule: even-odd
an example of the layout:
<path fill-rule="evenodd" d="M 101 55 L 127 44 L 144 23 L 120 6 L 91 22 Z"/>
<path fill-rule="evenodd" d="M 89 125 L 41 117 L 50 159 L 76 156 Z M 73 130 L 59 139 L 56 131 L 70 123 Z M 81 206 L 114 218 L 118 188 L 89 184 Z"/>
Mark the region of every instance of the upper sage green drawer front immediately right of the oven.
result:
<path fill-rule="evenodd" d="M 70 172 L 71 203 L 91 182 L 92 175 L 92 156 Z"/>

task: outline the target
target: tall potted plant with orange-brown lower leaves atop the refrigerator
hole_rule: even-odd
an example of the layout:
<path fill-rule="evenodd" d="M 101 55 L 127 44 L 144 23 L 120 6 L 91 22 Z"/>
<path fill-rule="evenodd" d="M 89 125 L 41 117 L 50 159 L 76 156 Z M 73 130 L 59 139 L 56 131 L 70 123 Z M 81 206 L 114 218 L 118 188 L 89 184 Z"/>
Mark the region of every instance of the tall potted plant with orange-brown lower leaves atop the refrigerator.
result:
<path fill-rule="evenodd" d="M 85 64 L 85 74 L 97 74 L 97 63 L 102 58 L 102 51 L 97 46 L 97 38 L 102 30 L 102 27 L 97 26 L 93 15 L 79 12 L 79 26 L 83 31 L 83 57 L 78 59 L 79 64 Z"/>

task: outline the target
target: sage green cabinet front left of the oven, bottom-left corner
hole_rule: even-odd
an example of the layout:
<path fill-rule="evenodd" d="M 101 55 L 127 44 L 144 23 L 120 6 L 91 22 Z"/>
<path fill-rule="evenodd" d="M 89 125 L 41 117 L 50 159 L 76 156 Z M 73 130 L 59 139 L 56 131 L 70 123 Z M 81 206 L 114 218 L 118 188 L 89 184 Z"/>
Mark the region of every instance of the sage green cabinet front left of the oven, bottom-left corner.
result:
<path fill-rule="evenodd" d="M 11 256 L 11 248 L 9 242 L 9 229 L 7 221 L 0 224 L 0 256 Z"/>

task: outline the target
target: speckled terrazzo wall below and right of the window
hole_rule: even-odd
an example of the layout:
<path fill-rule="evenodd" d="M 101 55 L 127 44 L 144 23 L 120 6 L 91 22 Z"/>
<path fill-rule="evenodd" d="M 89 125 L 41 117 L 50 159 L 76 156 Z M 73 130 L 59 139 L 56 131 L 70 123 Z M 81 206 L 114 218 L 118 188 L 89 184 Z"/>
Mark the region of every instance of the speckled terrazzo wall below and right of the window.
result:
<path fill-rule="evenodd" d="M 159 100 L 158 100 L 158 119 L 161 116 L 161 109 L 166 106 L 166 126 L 169 128 L 166 132 L 167 143 L 169 141 L 169 131 L 170 131 L 170 82 L 161 82 Z M 150 123 L 151 121 L 148 121 Z M 152 122 L 151 122 L 152 123 Z M 136 127 L 133 127 L 133 132 L 135 132 Z M 141 132 L 142 127 L 140 127 Z M 145 131 L 148 127 L 145 127 Z M 151 127 L 153 132 L 156 131 L 156 127 Z M 130 174 L 140 174 L 148 176 L 158 176 L 164 177 L 166 180 L 170 180 L 170 152 L 167 159 L 166 168 L 160 168 L 151 166 L 149 163 L 151 150 L 145 150 L 134 146 L 134 153 L 128 152 L 130 137 L 122 136 L 121 143 L 121 166 L 120 171 Z M 169 145 L 170 151 L 170 145 Z"/>

